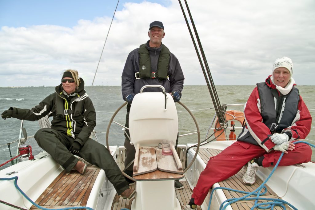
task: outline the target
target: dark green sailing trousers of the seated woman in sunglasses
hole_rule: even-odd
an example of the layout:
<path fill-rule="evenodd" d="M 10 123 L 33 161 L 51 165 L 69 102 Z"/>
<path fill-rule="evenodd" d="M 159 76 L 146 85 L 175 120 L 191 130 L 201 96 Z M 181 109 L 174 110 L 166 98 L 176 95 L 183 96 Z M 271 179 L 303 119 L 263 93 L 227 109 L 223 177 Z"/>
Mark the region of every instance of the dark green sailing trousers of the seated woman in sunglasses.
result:
<path fill-rule="evenodd" d="M 71 136 L 51 128 L 41 128 L 36 132 L 34 138 L 43 150 L 48 152 L 54 160 L 66 169 L 66 172 L 69 172 L 77 164 L 77 157 L 68 150 L 74 141 Z M 88 139 L 77 156 L 102 168 L 107 179 L 114 185 L 118 195 L 129 188 L 128 182 L 104 145 L 93 139 Z"/>

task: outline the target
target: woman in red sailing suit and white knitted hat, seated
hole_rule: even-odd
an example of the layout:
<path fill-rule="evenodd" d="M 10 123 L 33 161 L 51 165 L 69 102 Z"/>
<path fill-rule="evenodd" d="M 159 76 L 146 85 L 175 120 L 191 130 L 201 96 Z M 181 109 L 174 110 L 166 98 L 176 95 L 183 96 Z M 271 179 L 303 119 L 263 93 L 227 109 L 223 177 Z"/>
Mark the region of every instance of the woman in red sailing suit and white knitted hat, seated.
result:
<path fill-rule="evenodd" d="M 288 57 L 278 58 L 265 82 L 257 83 L 244 107 L 246 124 L 238 141 L 210 159 L 193 189 L 189 204 L 196 209 L 216 182 L 225 180 L 245 165 L 244 184 L 254 184 L 259 166 L 279 166 L 311 161 L 312 150 L 303 143 L 311 130 L 312 117 L 299 90 L 294 87 L 293 64 Z"/>

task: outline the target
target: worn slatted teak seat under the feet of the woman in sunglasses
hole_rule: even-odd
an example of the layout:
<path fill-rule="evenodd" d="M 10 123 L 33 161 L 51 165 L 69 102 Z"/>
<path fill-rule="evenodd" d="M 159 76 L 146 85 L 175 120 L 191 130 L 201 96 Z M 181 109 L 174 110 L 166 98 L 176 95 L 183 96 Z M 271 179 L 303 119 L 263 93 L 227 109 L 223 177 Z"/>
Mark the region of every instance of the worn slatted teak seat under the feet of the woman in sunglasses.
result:
<path fill-rule="evenodd" d="M 63 170 L 35 203 L 50 209 L 84 207 L 99 172 L 100 168 L 91 164 L 88 165 L 84 175 L 76 170 L 71 170 L 69 173 Z M 39 208 L 33 205 L 30 209 Z"/>

